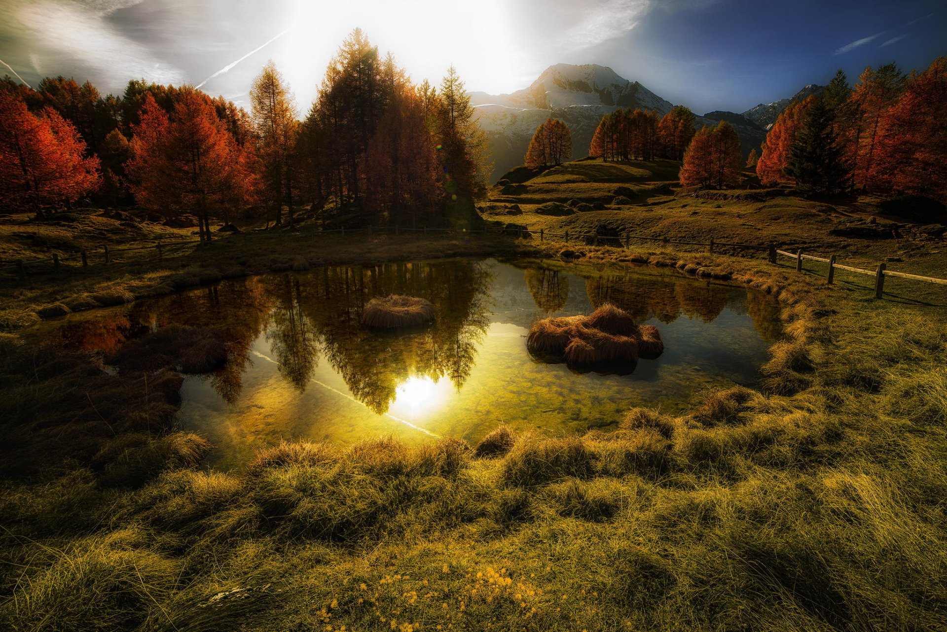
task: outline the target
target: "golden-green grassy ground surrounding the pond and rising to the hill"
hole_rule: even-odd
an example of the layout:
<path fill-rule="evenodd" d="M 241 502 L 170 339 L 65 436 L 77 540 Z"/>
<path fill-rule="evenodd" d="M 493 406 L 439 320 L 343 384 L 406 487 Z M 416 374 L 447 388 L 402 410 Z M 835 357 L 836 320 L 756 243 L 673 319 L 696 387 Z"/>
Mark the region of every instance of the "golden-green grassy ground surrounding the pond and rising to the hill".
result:
<path fill-rule="evenodd" d="M 484 207 L 534 228 L 615 222 L 659 237 L 777 239 L 852 262 L 890 256 L 902 259 L 893 269 L 945 269 L 941 242 L 906 237 L 915 235 L 907 227 L 901 237 L 830 234 L 877 228 L 867 221 L 877 201 L 830 209 L 785 192 L 706 200 L 664 186 L 674 172 L 672 163 L 574 163 L 517 196 L 497 187 Z M 618 185 L 633 189 L 632 204 L 612 203 Z M 535 212 L 571 199 L 608 208 Z M 507 215 L 510 200 L 522 214 Z M 725 272 L 776 295 L 786 338 L 771 349 L 763 389 L 705 393 L 678 416 L 636 409 L 614 430 L 581 436 L 515 434 L 495 419 L 478 446 L 288 443 L 230 474 L 202 469 L 211 447 L 175 429 L 181 378 L 169 368 L 113 374 L 80 354 L 19 344 L 22 331 L 8 335 L 0 340 L 0 624 L 942 629 L 947 322 L 934 306 L 947 291 L 903 282 L 876 301 L 857 278 L 827 286 L 817 270 L 799 274 L 759 255 L 640 243 L 300 238 L 278 255 L 253 256 L 370 261 L 464 248 L 551 256 L 567 246 L 582 253 L 568 266 L 652 261 Z M 210 268 L 247 256 L 236 242 L 235 254 L 226 248 Z M 201 255 L 182 258 L 181 270 Z M 157 280 L 176 273 L 149 261 L 123 270 L 123 282 L 135 280 L 132 271 Z M 81 283 L 105 282 L 96 274 L 90 268 Z M 57 291 L 33 283 L 12 308 Z"/>

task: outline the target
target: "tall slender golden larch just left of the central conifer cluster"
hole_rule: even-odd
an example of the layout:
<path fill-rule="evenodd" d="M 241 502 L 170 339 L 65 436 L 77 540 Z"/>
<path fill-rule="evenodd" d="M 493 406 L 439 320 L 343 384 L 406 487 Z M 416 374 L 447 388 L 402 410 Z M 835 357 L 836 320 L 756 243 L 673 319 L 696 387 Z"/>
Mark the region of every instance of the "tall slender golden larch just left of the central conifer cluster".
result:
<path fill-rule="evenodd" d="M 277 224 L 282 221 L 282 205 L 286 202 L 287 219 L 292 226 L 298 123 L 289 87 L 272 60 L 254 79 L 250 103 L 258 132 L 257 155 L 262 182 L 269 200 L 276 206 Z"/>

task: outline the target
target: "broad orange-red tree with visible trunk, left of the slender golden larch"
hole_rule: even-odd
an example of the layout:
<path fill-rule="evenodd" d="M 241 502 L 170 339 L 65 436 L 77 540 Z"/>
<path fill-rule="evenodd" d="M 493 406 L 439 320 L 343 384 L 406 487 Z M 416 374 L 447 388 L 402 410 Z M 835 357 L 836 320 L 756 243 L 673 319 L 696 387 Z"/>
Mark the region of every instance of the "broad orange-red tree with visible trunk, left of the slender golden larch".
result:
<path fill-rule="evenodd" d="M 158 212 L 193 211 L 202 242 L 210 241 L 210 216 L 226 217 L 243 201 L 240 149 L 210 99 L 193 89 L 182 90 L 170 115 L 146 97 L 132 149 L 126 170 L 135 199 Z"/>

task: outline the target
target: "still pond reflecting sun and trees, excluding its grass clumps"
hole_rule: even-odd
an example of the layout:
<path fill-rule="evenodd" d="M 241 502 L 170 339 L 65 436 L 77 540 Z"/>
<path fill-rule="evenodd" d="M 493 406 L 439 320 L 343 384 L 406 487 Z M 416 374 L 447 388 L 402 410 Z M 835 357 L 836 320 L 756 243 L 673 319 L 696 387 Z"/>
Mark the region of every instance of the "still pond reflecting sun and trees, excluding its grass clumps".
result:
<path fill-rule="evenodd" d="M 362 326 L 366 302 L 392 293 L 431 301 L 434 324 L 399 334 Z M 656 325 L 664 354 L 599 375 L 527 353 L 537 319 L 604 302 Z M 500 424 L 562 434 L 608 427 L 634 406 L 674 413 L 706 388 L 753 386 L 781 333 L 775 301 L 732 284 L 647 266 L 492 259 L 229 280 L 49 325 L 59 343 L 101 357 L 169 325 L 219 327 L 229 360 L 185 379 L 177 419 L 214 444 L 208 465 L 224 469 L 281 438 L 473 444 Z"/>

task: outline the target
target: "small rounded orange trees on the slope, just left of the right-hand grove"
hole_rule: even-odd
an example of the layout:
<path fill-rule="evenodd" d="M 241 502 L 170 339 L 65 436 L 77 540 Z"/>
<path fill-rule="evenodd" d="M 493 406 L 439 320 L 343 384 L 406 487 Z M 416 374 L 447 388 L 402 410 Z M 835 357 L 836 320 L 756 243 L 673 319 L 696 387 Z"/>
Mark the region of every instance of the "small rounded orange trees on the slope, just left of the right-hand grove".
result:
<path fill-rule="evenodd" d="M 726 121 L 704 126 L 684 152 L 680 179 L 684 186 L 730 188 L 740 182 L 740 137 Z"/>

